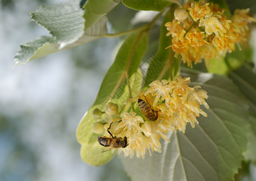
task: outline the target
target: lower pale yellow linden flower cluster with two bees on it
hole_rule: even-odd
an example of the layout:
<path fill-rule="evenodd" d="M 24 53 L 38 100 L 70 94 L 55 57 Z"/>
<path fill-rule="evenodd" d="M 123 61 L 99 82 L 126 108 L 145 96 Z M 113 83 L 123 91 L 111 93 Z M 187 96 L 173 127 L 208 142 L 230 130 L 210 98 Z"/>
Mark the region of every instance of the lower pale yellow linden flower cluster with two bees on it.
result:
<path fill-rule="evenodd" d="M 124 156 L 133 157 L 136 154 L 136 157 L 144 159 L 147 151 L 150 155 L 150 151 L 161 153 L 160 138 L 169 142 L 166 136 L 168 131 L 185 133 L 187 122 L 194 128 L 200 114 L 207 116 L 200 109 L 201 104 L 209 108 L 205 101 L 207 92 L 200 86 L 189 87 L 189 82 L 189 77 L 181 76 L 169 82 L 156 80 L 149 84 L 149 89 L 139 93 L 138 98 L 143 99 L 158 114 L 155 121 L 144 115 L 136 115 L 135 112 L 124 112 L 120 117 L 118 106 L 113 103 L 107 104 L 105 112 L 95 109 L 93 118 L 98 122 L 93 125 L 93 132 L 109 136 L 107 128 L 111 125 L 110 132 L 113 135 L 121 138 L 126 136 L 129 145 L 118 148 L 118 154 L 123 151 Z"/>

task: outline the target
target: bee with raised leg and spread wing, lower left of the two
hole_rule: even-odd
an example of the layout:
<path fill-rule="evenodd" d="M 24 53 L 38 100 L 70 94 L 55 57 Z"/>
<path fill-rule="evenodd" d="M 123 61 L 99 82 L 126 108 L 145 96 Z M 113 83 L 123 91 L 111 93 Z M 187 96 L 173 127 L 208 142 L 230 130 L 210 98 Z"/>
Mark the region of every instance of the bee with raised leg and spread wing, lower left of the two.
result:
<path fill-rule="evenodd" d="M 107 132 L 111 137 L 98 136 L 98 142 L 100 145 L 103 145 L 103 148 L 93 151 L 92 154 L 103 153 L 105 151 L 112 150 L 113 148 L 126 148 L 129 145 L 126 136 L 124 136 L 124 138 L 121 138 L 121 137 L 113 136 L 112 133 L 110 133 L 111 124 L 107 129 Z"/>

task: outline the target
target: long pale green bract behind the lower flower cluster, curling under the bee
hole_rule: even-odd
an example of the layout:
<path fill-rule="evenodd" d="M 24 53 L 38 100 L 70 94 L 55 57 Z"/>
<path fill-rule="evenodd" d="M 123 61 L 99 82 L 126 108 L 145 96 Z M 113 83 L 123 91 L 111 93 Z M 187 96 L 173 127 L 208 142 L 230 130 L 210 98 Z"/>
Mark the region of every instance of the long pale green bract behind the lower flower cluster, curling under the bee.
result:
<path fill-rule="evenodd" d="M 99 166 L 106 164 L 112 159 L 111 151 L 106 151 L 100 155 L 92 154 L 93 151 L 102 146 L 93 139 L 92 126 L 95 120 L 92 118 L 92 111 L 95 108 L 104 111 L 106 104 L 109 101 L 123 106 L 129 98 L 129 90 L 126 84 L 126 74 L 129 76 L 130 86 L 134 92 L 141 88 L 143 75 L 138 70 L 140 60 L 143 57 L 147 47 L 147 34 L 134 33 L 124 41 L 115 62 L 107 71 L 101 83 L 98 95 L 89 112 L 81 119 L 78 129 L 76 130 L 76 138 L 81 146 L 81 157 L 87 164 Z M 121 90 L 121 91 L 120 91 Z"/>

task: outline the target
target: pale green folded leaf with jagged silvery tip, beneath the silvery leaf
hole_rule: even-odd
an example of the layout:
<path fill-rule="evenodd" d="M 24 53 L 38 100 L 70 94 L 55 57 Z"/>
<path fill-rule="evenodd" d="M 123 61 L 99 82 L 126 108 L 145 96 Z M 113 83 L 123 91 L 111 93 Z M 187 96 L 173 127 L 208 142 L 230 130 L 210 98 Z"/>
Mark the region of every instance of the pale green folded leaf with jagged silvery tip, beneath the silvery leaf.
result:
<path fill-rule="evenodd" d="M 21 48 L 19 48 L 17 54 L 15 55 L 15 67 L 24 65 L 30 60 L 39 59 L 55 52 L 74 48 L 75 46 L 79 46 L 98 39 L 99 37 L 103 37 L 105 34 L 107 34 L 106 23 L 106 18 L 101 19 L 95 25 L 86 30 L 83 36 L 81 36 L 78 40 L 69 45 L 66 45 L 62 49 L 60 49 L 61 44 L 58 43 L 56 37 L 40 36 L 36 39 L 33 39 L 30 42 L 21 45 Z"/>

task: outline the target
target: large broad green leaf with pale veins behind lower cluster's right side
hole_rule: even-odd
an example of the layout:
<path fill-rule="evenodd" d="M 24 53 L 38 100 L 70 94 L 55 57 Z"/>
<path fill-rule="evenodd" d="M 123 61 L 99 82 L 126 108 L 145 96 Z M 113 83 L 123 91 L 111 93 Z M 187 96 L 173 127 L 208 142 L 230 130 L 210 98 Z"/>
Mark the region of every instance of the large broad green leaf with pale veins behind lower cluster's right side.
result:
<path fill-rule="evenodd" d="M 162 140 L 162 153 L 146 154 L 145 159 L 121 160 L 132 180 L 232 180 L 243 160 L 248 140 L 246 103 L 237 87 L 220 75 L 183 69 L 191 86 L 200 84 L 208 92 L 207 118 L 186 133 L 169 132 Z"/>

